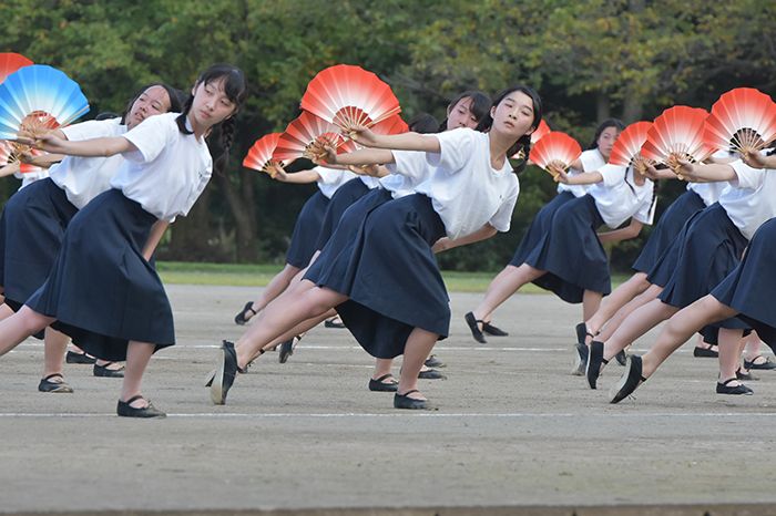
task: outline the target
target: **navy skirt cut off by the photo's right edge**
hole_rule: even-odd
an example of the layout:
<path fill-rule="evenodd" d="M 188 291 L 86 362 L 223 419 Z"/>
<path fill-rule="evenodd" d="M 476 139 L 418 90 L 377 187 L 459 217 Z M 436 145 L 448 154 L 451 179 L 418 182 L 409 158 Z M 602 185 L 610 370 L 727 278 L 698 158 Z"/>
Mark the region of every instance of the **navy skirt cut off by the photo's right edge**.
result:
<path fill-rule="evenodd" d="M 714 290 L 776 352 L 776 219 L 760 226 L 741 264 Z"/>

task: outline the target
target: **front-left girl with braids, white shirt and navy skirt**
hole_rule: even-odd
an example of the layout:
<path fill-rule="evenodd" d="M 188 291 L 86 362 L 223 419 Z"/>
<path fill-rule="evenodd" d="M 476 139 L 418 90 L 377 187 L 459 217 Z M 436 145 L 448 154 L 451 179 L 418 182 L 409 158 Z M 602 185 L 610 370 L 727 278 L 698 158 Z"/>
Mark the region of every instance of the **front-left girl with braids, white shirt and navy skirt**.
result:
<path fill-rule="evenodd" d="M 76 156 L 125 158 L 112 189 L 70 221 L 45 283 L 14 316 L 0 322 L 0 354 L 49 324 L 88 353 L 126 360 L 116 412 L 165 415 L 141 394 L 152 353 L 175 342 L 172 310 L 147 258 L 164 229 L 185 216 L 210 180 L 213 161 L 204 136 L 222 124 L 227 157 L 234 118 L 246 95 L 243 73 L 214 65 L 197 79 L 183 113 L 152 116 L 122 136 L 69 142 L 49 135 L 37 145 Z"/>

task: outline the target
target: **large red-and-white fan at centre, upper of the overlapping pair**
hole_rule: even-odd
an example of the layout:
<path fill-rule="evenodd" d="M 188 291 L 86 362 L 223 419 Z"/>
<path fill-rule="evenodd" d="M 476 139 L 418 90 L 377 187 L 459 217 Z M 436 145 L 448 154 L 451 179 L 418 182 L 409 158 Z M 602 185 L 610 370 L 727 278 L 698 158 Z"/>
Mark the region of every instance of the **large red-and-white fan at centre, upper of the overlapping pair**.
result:
<path fill-rule="evenodd" d="M 401 111 L 390 86 L 360 66 L 337 64 L 318 72 L 302 97 L 302 109 L 345 131 L 371 127 Z"/>

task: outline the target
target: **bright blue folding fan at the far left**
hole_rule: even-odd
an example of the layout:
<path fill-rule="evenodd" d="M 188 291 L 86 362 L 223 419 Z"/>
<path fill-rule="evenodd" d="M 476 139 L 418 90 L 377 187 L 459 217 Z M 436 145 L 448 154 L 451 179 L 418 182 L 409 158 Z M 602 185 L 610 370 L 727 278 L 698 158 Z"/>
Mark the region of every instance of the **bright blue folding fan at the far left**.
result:
<path fill-rule="evenodd" d="M 34 137 L 88 111 L 86 97 L 68 75 L 42 64 L 24 66 L 0 84 L 0 140 L 16 140 L 22 131 Z"/>

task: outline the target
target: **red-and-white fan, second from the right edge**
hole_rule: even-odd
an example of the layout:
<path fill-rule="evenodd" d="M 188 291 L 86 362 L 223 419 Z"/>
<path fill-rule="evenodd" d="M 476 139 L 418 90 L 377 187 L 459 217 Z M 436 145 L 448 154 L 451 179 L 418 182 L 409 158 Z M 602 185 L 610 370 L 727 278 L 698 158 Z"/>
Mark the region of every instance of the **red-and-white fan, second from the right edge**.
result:
<path fill-rule="evenodd" d="M 676 169 L 678 159 L 700 163 L 712 154 L 703 140 L 708 113 L 698 107 L 677 105 L 665 110 L 646 132 L 641 155 Z"/>

